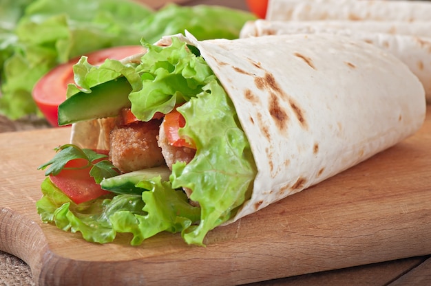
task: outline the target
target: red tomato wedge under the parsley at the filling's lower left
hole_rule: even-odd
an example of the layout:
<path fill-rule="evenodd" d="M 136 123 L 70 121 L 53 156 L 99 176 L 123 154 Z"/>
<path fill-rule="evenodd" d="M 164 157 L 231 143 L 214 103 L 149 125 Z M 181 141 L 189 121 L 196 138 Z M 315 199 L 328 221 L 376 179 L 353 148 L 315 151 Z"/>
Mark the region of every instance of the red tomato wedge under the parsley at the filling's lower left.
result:
<path fill-rule="evenodd" d="M 98 153 L 107 153 L 107 151 L 97 151 Z M 50 175 L 52 183 L 62 190 L 67 197 L 70 197 L 74 203 L 83 203 L 92 199 L 97 199 L 102 195 L 107 195 L 110 192 L 102 190 L 101 186 L 96 184 L 90 176 L 91 166 L 81 168 L 87 165 L 85 159 L 73 159 L 65 165 L 58 175 Z"/>

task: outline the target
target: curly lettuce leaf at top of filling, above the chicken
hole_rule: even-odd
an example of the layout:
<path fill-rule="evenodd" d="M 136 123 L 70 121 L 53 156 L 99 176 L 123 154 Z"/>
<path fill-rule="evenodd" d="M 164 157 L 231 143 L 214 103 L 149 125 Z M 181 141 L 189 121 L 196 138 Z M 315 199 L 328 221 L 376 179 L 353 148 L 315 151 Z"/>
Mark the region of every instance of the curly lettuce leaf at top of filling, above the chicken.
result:
<path fill-rule="evenodd" d="M 215 79 L 202 57 L 191 53 L 177 38 L 172 41 L 168 47 L 144 43 L 148 52 L 136 67 L 143 85 L 129 95 L 132 112 L 140 120 L 148 121 L 156 112 L 169 113 Z"/>

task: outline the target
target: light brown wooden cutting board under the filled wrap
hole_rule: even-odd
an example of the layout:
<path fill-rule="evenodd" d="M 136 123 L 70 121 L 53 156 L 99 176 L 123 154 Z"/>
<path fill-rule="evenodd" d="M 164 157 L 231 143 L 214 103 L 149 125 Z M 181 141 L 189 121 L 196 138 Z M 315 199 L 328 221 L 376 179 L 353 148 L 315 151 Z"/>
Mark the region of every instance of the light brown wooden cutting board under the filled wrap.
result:
<path fill-rule="evenodd" d="M 238 285 L 431 254 L 431 110 L 419 133 L 344 173 L 207 235 L 98 245 L 43 224 L 37 166 L 70 129 L 0 134 L 0 250 L 36 285 Z"/>

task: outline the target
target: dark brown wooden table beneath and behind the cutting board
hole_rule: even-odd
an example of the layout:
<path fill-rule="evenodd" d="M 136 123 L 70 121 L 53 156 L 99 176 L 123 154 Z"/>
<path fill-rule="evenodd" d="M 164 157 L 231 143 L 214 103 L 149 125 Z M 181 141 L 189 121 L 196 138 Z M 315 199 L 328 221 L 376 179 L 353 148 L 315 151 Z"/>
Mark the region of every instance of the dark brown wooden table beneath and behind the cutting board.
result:
<path fill-rule="evenodd" d="M 141 0 L 149 3 L 149 5 L 158 8 L 167 1 Z M 187 1 L 177 0 L 176 2 L 183 5 L 196 5 L 198 3 L 205 4 L 220 4 L 231 8 L 240 8 L 246 10 L 245 1 Z M 1 122 L 0 122 L 1 125 Z M 18 132 L 20 130 L 14 129 Z M 0 128 L 1 130 L 1 128 Z M 12 131 L 5 129 L 4 131 Z M 431 131 L 431 130 L 430 130 Z M 431 146 L 431 145 L 430 145 Z M 430 158 L 431 160 L 431 158 Z M 430 170 L 431 171 L 431 170 Z M 431 186 L 430 186 L 431 188 Z M 0 257 L 7 257 L 10 263 L 20 263 L 20 260 L 14 256 L 10 256 L 5 252 L 0 252 Z M 294 258 L 293 258 L 294 259 Z M 18 261 L 18 262 L 17 262 Z M 28 270 L 29 271 L 29 270 Z M 3 272 L 0 272 L 0 274 Z M 12 275 L 12 274 L 10 274 Z M 19 275 L 19 274 L 15 274 Z M 1 277 L 0 277 L 1 282 Z M 312 274 L 304 274 L 299 276 L 291 276 L 288 278 L 280 278 L 271 281 L 253 283 L 251 285 L 431 285 L 431 255 L 413 256 L 395 261 L 385 261 L 356 267 L 340 267 L 339 270 L 325 271 Z"/>

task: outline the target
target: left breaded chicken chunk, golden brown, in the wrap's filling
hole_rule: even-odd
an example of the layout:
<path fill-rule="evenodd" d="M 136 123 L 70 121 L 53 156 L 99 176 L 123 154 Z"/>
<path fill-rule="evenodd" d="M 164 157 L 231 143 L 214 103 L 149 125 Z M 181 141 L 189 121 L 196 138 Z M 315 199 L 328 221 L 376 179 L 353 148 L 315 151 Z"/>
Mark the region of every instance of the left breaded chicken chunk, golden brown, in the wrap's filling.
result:
<path fill-rule="evenodd" d="M 165 163 L 157 144 L 160 120 L 116 126 L 109 135 L 109 159 L 123 173 Z"/>

